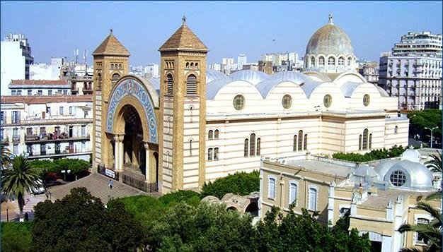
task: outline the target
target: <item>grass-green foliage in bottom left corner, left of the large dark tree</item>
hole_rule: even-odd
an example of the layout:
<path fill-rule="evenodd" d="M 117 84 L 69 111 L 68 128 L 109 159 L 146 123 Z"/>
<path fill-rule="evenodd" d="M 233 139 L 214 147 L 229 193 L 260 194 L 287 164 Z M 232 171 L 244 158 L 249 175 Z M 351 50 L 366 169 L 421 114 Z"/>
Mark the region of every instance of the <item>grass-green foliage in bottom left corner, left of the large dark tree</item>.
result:
<path fill-rule="evenodd" d="M 31 222 L 1 222 L 1 251 L 31 251 Z"/>

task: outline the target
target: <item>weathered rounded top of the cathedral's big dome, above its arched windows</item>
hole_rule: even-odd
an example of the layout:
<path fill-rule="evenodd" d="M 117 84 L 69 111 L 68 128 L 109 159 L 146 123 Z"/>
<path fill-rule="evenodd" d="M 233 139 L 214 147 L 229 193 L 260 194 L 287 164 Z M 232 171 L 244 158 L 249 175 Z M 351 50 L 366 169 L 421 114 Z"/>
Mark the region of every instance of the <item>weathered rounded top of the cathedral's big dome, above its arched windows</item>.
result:
<path fill-rule="evenodd" d="M 332 22 L 329 16 L 329 23 L 318 29 L 309 40 L 306 46 L 306 55 L 310 54 L 335 54 L 354 55 L 351 40 L 343 30 Z"/>

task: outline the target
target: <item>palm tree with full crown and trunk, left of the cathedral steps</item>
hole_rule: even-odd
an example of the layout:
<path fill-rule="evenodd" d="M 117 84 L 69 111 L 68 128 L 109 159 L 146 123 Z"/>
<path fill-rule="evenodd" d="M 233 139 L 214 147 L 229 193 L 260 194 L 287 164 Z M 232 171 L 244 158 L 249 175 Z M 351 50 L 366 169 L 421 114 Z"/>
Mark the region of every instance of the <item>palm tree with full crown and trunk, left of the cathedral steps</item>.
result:
<path fill-rule="evenodd" d="M 1 191 L 6 197 L 11 194 L 17 196 L 20 209 L 20 221 L 23 222 L 23 207 L 25 206 L 25 191 L 29 188 L 38 188 L 40 171 L 34 169 L 23 155 L 15 157 L 9 169 L 4 169 L 1 174 Z"/>

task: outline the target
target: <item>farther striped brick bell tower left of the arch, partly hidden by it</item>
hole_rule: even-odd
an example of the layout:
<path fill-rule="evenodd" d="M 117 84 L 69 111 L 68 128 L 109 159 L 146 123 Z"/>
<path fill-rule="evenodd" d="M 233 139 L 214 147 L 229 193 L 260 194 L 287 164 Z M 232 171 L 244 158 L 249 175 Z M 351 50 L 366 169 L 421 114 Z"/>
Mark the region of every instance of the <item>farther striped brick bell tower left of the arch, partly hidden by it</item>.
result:
<path fill-rule="evenodd" d="M 130 52 L 110 35 L 92 53 L 94 68 L 93 95 L 93 171 L 98 164 L 113 168 L 113 155 L 110 138 L 105 133 L 106 113 L 108 112 L 110 92 L 117 81 L 129 71 Z"/>

